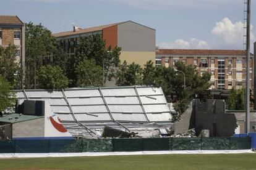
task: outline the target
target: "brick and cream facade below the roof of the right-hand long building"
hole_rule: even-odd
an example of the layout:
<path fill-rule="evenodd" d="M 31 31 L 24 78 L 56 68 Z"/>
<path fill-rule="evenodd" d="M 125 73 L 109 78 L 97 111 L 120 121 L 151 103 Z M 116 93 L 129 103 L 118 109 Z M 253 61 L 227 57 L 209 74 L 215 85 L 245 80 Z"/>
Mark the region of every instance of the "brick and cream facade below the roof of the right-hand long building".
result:
<path fill-rule="evenodd" d="M 161 60 L 161 62 L 160 62 Z M 245 88 L 245 56 L 244 55 L 156 55 L 156 65 L 164 67 L 173 66 L 175 62 L 180 61 L 186 65 L 194 65 L 197 68 L 198 74 L 202 75 L 204 72 L 211 73 L 212 89 L 220 89 L 218 86 L 218 60 L 224 60 L 224 89 Z M 241 63 L 237 63 L 240 60 Z M 206 62 L 207 66 L 200 63 Z M 231 62 L 231 63 L 230 63 Z M 254 59 L 251 55 L 250 59 L 250 88 L 253 88 L 253 65 Z M 241 84 L 239 84 L 241 82 Z"/>

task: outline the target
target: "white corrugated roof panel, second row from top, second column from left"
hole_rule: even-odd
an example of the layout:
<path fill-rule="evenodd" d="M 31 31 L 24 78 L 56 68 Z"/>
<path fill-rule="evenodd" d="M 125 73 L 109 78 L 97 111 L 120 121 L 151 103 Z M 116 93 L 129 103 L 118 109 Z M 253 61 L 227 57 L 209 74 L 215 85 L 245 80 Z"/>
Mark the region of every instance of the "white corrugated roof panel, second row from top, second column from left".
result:
<path fill-rule="evenodd" d="M 102 105 L 104 104 L 101 97 L 91 98 L 69 98 L 67 99 L 70 105 Z"/>

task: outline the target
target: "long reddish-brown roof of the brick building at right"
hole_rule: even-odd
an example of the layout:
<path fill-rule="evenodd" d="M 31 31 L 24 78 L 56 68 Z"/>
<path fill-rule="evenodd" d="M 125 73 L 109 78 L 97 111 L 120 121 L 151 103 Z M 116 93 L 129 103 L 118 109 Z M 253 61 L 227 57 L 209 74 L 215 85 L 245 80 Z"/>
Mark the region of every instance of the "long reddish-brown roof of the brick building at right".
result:
<path fill-rule="evenodd" d="M 158 49 L 158 55 L 246 55 L 245 50 L 223 49 Z"/>

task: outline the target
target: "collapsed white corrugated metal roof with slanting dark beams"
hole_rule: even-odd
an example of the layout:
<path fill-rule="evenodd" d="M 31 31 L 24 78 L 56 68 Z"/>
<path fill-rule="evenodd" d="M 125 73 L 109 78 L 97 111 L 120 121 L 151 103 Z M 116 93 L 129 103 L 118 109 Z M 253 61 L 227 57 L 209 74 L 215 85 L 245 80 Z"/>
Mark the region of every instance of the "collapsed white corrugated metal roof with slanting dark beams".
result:
<path fill-rule="evenodd" d="M 171 126 L 171 111 L 161 87 L 89 87 L 15 91 L 23 100 L 46 100 L 71 132 L 96 134 L 105 126 L 143 131 Z"/>

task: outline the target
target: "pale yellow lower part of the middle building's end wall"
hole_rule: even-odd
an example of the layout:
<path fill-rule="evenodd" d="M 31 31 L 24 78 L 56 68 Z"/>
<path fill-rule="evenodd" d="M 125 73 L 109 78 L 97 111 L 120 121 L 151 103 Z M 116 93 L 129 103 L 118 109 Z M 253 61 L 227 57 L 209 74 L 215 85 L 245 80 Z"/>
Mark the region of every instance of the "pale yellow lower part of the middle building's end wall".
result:
<path fill-rule="evenodd" d="M 120 60 L 121 63 L 124 62 L 124 60 L 126 60 L 128 64 L 135 62 L 143 67 L 149 60 L 155 60 L 155 52 L 121 51 Z"/>

